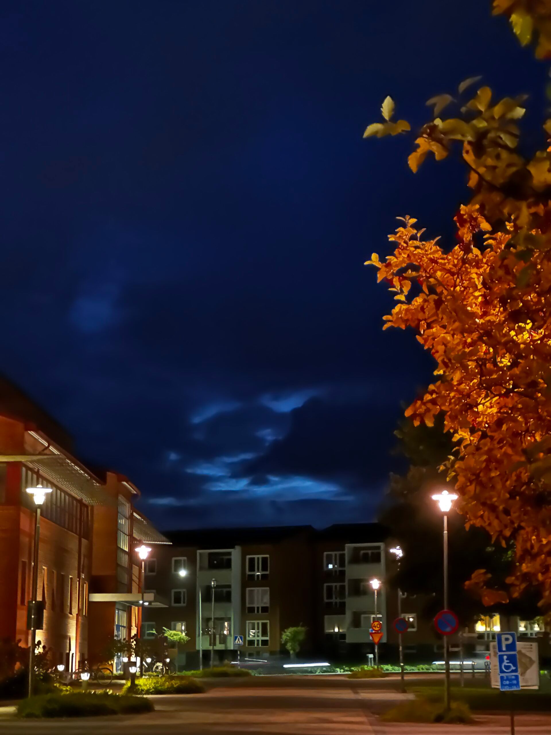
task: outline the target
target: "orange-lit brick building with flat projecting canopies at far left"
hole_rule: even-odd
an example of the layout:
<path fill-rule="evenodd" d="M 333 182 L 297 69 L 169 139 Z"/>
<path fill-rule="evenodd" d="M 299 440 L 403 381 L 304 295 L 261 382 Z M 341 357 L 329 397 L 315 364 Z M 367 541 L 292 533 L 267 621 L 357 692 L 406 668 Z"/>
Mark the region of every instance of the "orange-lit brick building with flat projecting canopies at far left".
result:
<path fill-rule="evenodd" d="M 90 470 L 71 439 L 21 391 L 0 379 L 0 638 L 29 645 L 36 506 L 28 487 L 51 492 L 41 509 L 37 640 L 73 670 L 101 659 L 109 637 L 140 628 L 141 579 L 133 549 L 168 543 L 134 508 L 140 492 L 112 471 Z M 152 606 L 164 604 L 151 597 Z"/>

